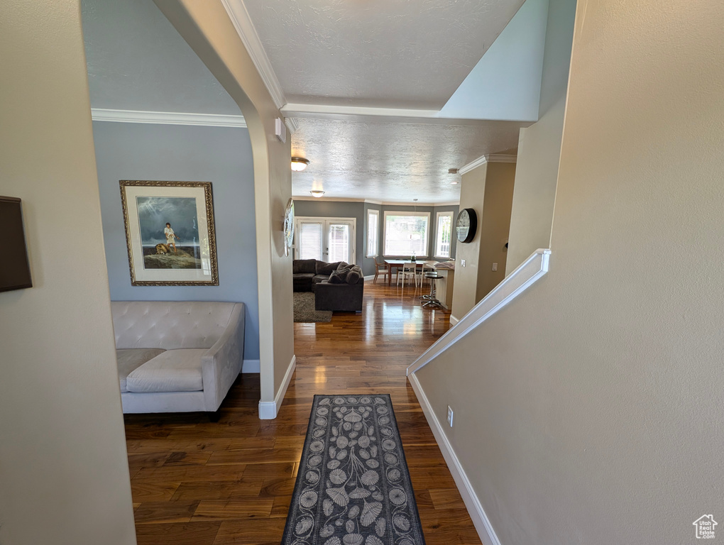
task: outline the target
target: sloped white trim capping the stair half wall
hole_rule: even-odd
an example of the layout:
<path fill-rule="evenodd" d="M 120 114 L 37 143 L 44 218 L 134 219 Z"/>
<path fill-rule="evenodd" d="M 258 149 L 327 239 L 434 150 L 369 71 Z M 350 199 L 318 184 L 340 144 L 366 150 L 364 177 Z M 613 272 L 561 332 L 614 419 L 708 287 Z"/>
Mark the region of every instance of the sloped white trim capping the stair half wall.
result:
<path fill-rule="evenodd" d="M 550 250 L 539 248 L 532 253 L 526 261 L 523 261 L 515 271 L 510 273 L 498 284 L 492 292 L 484 297 L 470 312 L 463 318 L 460 318 L 455 326 L 447 330 L 437 342 L 429 347 L 423 354 L 417 358 L 411 366 L 407 368 L 408 376 L 419 368 L 426 366 L 434 358 L 437 358 L 442 352 L 465 337 L 477 326 L 486 321 L 494 313 L 508 305 L 510 301 L 521 295 L 536 280 L 544 276 L 548 272 L 548 261 L 550 259 Z"/>

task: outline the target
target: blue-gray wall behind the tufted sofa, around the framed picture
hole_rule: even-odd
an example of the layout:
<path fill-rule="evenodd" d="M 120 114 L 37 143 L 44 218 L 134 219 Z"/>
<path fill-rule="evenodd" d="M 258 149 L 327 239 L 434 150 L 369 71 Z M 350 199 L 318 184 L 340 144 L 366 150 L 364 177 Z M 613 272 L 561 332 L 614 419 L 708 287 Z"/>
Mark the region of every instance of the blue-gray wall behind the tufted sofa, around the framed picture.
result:
<path fill-rule="evenodd" d="M 253 161 L 248 131 L 93 122 L 111 300 L 240 301 L 244 358 L 259 358 Z M 118 181 L 211 182 L 218 286 L 132 286 Z"/>

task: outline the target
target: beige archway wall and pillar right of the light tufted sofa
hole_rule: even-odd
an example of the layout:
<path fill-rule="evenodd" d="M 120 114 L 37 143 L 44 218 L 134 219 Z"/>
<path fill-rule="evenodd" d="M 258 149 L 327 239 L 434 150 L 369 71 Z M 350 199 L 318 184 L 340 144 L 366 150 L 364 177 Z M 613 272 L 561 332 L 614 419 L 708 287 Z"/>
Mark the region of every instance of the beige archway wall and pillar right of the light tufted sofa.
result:
<path fill-rule="evenodd" d="M 284 255 L 282 229 L 292 195 L 291 138 L 287 135 L 284 144 L 274 136 L 274 119 L 281 114 L 221 2 L 154 1 L 239 104 L 248 126 L 256 200 L 261 401 L 271 402 L 294 355 L 292 257 Z"/>

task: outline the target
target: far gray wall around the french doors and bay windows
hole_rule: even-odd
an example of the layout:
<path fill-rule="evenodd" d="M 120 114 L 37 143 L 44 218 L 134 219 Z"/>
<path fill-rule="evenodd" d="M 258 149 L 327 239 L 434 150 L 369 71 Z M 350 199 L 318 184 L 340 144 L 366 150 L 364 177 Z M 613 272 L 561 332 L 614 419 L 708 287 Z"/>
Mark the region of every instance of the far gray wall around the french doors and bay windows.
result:
<path fill-rule="evenodd" d="M 403 211 L 403 212 L 428 212 L 430 214 L 430 235 L 428 243 L 429 259 L 432 259 L 434 253 L 434 241 L 437 235 L 436 229 L 438 212 L 452 211 L 452 245 L 450 248 L 450 257 L 455 257 L 455 246 L 457 239 L 455 238 L 455 219 L 458 216 L 458 205 L 447 206 L 406 206 L 406 205 L 379 205 L 374 203 L 353 203 L 343 200 L 295 200 L 294 213 L 296 216 L 311 217 L 330 217 L 330 218 L 356 218 L 356 261 L 362 266 L 365 275 L 374 274 L 374 258 L 366 258 L 367 252 L 367 211 L 379 210 L 379 257 L 382 261 L 382 253 L 384 251 L 384 211 Z M 392 256 L 387 256 L 392 257 Z"/>

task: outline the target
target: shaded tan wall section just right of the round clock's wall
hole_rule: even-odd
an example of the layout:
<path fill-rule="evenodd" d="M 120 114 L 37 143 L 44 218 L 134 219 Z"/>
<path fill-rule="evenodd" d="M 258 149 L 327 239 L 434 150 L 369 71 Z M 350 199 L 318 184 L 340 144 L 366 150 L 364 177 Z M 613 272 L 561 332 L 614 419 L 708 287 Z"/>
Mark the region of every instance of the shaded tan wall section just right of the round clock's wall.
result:
<path fill-rule="evenodd" d="M 488 163 L 483 215 L 479 226 L 480 258 L 476 303 L 505 278 L 505 258 L 508 255 L 505 242 L 508 242 L 510 231 L 514 183 L 515 163 Z M 497 271 L 492 270 L 493 263 L 497 263 Z"/>

